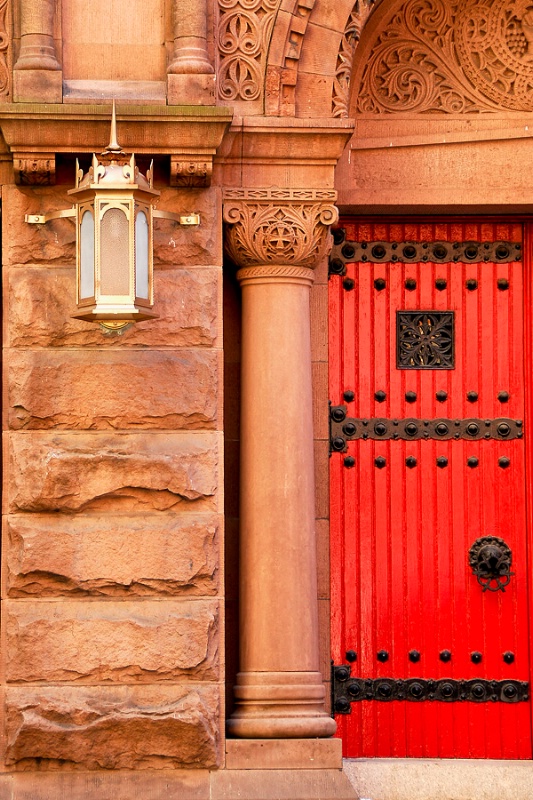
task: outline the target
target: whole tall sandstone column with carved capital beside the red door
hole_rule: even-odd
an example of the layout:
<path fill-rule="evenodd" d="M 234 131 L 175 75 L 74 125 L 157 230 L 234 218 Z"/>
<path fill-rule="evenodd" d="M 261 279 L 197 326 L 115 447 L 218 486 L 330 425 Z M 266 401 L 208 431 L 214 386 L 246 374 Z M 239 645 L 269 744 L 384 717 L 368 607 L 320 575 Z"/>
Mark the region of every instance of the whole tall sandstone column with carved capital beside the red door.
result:
<path fill-rule="evenodd" d="M 230 735 L 331 736 L 319 672 L 309 289 L 334 192 L 226 193 L 242 287 L 240 672 Z"/>

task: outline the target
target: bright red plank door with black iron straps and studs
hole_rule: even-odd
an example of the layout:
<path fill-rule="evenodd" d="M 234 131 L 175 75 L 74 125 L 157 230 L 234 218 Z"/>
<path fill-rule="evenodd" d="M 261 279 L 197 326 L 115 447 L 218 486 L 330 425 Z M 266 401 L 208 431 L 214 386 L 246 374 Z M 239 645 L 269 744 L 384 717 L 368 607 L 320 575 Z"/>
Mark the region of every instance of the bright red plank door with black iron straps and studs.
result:
<path fill-rule="evenodd" d="M 334 233 L 345 755 L 530 758 L 522 226 L 346 220 Z"/>

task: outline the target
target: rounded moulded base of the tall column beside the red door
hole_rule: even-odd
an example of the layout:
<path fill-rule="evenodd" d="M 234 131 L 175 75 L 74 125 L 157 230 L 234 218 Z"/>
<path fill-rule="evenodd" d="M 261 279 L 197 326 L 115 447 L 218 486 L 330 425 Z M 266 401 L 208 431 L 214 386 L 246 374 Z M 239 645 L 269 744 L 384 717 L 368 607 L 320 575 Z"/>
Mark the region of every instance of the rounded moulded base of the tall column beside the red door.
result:
<path fill-rule="evenodd" d="M 319 672 L 240 672 L 228 734 L 242 739 L 310 739 L 333 736 Z"/>

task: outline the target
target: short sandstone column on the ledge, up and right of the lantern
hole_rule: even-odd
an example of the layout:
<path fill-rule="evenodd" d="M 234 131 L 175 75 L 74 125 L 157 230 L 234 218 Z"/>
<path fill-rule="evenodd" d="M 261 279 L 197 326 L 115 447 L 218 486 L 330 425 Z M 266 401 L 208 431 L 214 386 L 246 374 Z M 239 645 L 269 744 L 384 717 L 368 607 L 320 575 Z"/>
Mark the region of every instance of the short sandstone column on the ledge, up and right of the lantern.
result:
<path fill-rule="evenodd" d="M 173 0 L 174 53 L 168 66 L 168 102 L 214 102 L 215 75 L 207 52 L 207 0 Z"/>

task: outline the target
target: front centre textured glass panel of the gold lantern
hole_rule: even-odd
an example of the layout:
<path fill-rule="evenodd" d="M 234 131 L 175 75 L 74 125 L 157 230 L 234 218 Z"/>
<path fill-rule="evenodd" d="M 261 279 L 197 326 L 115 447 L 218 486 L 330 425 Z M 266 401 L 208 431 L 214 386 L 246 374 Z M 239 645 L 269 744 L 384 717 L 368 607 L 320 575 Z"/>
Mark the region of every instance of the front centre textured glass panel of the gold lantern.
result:
<path fill-rule="evenodd" d="M 129 295 L 128 218 L 119 208 L 110 208 L 100 227 L 100 293 Z"/>

